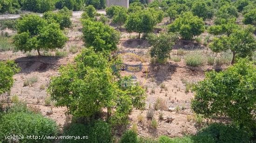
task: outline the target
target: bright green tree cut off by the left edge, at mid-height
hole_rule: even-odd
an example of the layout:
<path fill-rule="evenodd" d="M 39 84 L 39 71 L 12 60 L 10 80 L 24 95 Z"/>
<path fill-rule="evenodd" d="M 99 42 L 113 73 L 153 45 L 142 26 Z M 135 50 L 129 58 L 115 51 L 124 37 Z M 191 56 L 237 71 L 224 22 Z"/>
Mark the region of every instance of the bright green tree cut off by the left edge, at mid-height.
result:
<path fill-rule="evenodd" d="M 0 94 L 9 93 L 13 86 L 13 75 L 20 71 L 14 61 L 0 61 Z"/>

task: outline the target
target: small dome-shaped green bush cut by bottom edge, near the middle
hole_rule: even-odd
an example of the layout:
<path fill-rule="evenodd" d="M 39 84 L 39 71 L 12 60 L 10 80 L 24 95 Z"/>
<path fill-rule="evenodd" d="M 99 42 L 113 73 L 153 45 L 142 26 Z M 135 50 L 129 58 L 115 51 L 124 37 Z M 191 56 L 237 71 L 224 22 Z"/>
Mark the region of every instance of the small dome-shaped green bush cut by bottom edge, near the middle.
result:
<path fill-rule="evenodd" d="M 138 143 L 137 133 L 133 130 L 125 131 L 120 139 L 120 143 Z"/>

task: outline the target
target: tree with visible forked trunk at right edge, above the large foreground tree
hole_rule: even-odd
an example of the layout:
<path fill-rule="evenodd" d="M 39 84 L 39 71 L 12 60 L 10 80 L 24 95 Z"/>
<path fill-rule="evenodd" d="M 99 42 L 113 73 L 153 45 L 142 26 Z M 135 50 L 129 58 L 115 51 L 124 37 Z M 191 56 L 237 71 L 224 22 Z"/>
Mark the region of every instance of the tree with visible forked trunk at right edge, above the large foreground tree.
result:
<path fill-rule="evenodd" d="M 234 64 L 236 56 L 251 57 L 252 52 L 256 50 L 256 38 L 253 31 L 254 29 L 249 26 L 246 29 L 236 29 L 229 36 L 215 37 L 209 44 L 209 48 L 217 53 L 231 50 L 233 53 L 231 64 Z"/>

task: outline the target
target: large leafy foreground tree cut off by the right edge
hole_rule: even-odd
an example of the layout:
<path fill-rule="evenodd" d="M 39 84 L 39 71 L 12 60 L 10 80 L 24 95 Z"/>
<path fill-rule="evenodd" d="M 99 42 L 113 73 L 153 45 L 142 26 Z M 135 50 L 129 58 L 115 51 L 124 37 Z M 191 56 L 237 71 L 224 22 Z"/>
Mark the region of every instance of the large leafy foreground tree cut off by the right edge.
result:
<path fill-rule="evenodd" d="M 207 72 L 193 89 L 192 110 L 209 118 L 227 116 L 241 127 L 256 127 L 256 68 L 240 59 L 223 72 Z"/>

